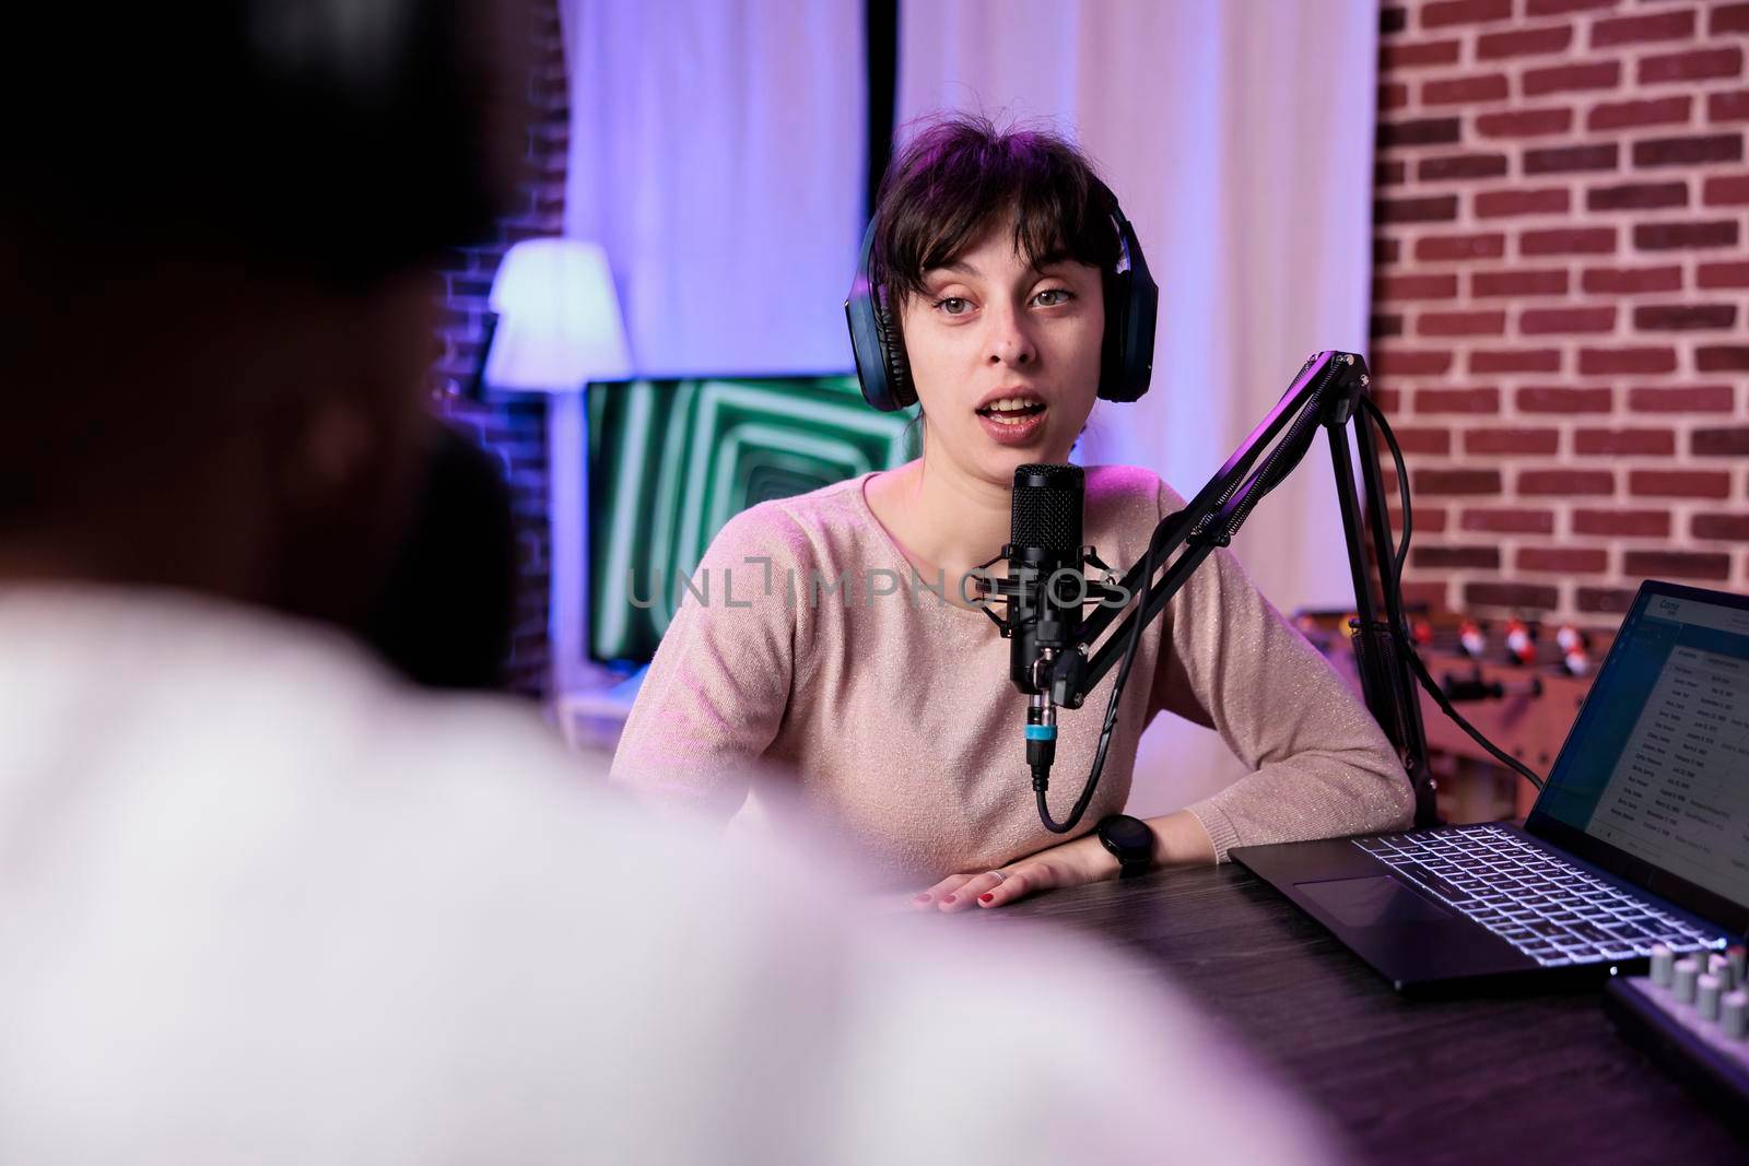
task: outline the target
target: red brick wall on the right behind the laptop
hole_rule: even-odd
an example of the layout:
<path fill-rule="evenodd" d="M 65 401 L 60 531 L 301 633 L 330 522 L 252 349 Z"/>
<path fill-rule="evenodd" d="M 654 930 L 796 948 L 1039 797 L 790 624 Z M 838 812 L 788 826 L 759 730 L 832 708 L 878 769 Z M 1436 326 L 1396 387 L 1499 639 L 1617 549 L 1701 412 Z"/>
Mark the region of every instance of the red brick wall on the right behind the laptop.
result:
<path fill-rule="evenodd" d="M 1373 365 L 1411 600 L 1749 591 L 1749 3 L 1387 0 Z"/>

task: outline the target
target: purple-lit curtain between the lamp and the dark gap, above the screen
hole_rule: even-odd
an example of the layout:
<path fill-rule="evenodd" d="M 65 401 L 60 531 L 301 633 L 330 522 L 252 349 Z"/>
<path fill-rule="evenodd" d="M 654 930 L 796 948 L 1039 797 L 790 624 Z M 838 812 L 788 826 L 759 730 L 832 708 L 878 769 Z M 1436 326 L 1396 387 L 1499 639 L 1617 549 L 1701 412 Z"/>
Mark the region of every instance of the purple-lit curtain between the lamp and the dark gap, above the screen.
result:
<path fill-rule="evenodd" d="M 862 5 L 561 0 L 565 233 L 607 248 L 644 374 L 848 371 Z"/>

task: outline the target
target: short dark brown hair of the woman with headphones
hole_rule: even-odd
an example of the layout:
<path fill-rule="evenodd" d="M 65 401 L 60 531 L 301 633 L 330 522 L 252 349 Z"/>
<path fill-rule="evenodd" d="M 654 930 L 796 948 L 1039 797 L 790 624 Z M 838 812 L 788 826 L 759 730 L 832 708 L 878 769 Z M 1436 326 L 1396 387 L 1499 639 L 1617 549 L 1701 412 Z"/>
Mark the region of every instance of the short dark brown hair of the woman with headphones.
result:
<path fill-rule="evenodd" d="M 1000 131 L 988 117 L 930 121 L 894 157 L 874 206 L 871 266 L 894 308 L 923 290 L 923 273 L 969 250 L 1002 213 L 1027 262 L 1070 257 L 1118 266 L 1116 199 L 1093 164 L 1044 129 Z"/>

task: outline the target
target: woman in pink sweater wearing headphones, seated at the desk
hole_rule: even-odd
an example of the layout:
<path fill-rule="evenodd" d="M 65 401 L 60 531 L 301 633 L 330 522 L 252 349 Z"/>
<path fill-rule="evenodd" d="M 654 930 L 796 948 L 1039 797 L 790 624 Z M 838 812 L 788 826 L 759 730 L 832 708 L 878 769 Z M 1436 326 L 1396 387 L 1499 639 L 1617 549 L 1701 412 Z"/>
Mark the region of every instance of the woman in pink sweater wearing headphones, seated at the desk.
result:
<path fill-rule="evenodd" d="M 1070 143 L 964 115 L 916 135 L 881 182 L 847 309 L 864 395 L 922 407 L 922 456 L 724 526 L 700 566 L 717 601 L 682 603 L 614 778 L 729 816 L 757 813 L 749 762 L 771 762 L 862 858 L 927 886 L 913 906 L 943 911 L 1408 825 L 1383 732 L 1228 551 L 1142 633 L 1098 825 L 1062 841 L 1039 820 L 1016 741 L 1027 698 L 965 580 L 1009 540 L 1016 467 L 1067 462 L 1097 397 L 1147 390 L 1154 304 L 1130 224 Z M 1179 507 L 1149 470 L 1091 467 L 1084 542 L 1137 563 Z M 1163 710 L 1216 729 L 1251 773 L 1140 822 L 1121 811 Z M 1065 806 L 1098 732 L 1091 711 L 1060 724 Z"/>

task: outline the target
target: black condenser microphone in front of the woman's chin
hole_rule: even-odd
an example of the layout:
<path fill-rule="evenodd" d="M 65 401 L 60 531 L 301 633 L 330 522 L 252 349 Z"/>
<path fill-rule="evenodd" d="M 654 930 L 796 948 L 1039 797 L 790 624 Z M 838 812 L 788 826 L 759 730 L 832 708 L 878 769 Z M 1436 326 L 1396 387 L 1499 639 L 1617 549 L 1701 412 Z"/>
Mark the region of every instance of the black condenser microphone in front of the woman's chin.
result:
<path fill-rule="evenodd" d="M 1081 624 L 1086 579 L 1081 509 L 1086 472 L 1079 465 L 1023 465 L 1014 470 L 1014 507 L 1006 547 L 1013 598 L 1007 605 L 1009 678 L 1021 692 L 1049 691 L 1041 659 L 1069 647 Z"/>

